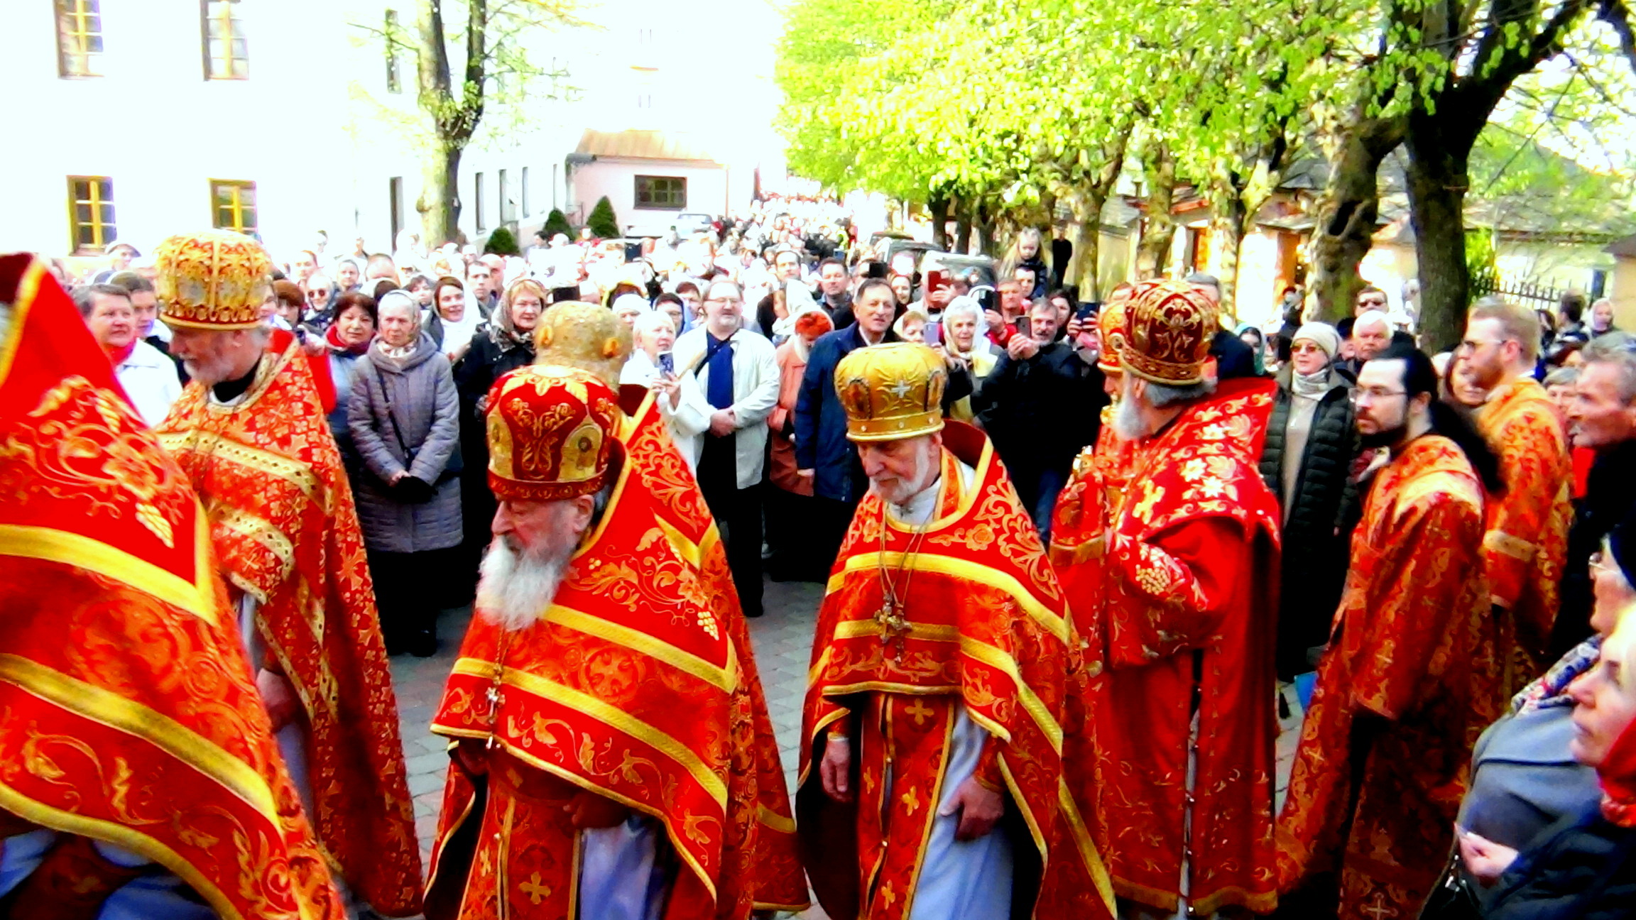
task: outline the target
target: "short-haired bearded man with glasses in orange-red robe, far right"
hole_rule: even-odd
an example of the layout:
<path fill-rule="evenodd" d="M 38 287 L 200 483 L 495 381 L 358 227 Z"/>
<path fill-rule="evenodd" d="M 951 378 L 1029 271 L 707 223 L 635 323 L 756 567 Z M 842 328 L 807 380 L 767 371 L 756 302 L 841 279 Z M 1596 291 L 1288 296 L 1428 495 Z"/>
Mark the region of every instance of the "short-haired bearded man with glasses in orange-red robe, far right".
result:
<path fill-rule="evenodd" d="M 1533 378 L 1539 318 L 1533 309 L 1482 298 L 1466 318 L 1459 357 L 1489 395 L 1477 427 L 1500 458 L 1505 491 L 1484 507 L 1482 557 L 1500 624 L 1505 692 L 1539 676 L 1556 619 L 1557 578 L 1567 557 L 1574 465 L 1556 403 Z"/>

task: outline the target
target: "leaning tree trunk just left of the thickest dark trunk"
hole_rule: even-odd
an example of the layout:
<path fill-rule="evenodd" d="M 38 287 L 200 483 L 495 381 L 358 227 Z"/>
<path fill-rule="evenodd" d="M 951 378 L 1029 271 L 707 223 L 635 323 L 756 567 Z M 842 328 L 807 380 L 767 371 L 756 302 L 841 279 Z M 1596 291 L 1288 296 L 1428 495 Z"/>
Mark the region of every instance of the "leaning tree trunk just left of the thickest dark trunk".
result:
<path fill-rule="evenodd" d="M 1402 136 L 1402 120 L 1397 118 L 1371 118 L 1343 131 L 1330 162 L 1328 183 L 1314 213 L 1307 252 L 1317 314 L 1310 319 L 1335 322 L 1351 316 L 1351 301 L 1363 288 L 1358 264 L 1374 246 L 1374 223 L 1381 214 L 1381 160 L 1397 147 Z"/>

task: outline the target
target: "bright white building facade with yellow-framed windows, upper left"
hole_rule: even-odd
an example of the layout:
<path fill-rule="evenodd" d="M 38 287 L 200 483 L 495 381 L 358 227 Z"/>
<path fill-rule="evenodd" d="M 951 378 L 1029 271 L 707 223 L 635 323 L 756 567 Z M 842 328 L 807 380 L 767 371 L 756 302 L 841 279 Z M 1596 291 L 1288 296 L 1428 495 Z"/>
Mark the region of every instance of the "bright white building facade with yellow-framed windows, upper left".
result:
<path fill-rule="evenodd" d="M 429 126 L 416 105 L 416 56 L 388 54 L 383 31 L 396 21 L 414 41 L 416 7 L 0 5 L 8 38 L 0 80 L 13 90 L 7 108 L 15 126 L 0 170 L 0 252 L 92 257 L 118 239 L 147 254 L 165 236 L 208 226 L 254 232 L 281 262 L 312 247 L 317 231 L 327 234 L 330 257 L 350 252 L 355 237 L 370 252 L 389 252 L 396 231 L 420 232 L 416 200 Z M 651 7 L 643 15 L 663 16 L 661 25 L 713 18 L 707 3 L 638 7 Z M 463 7 L 443 10 L 456 29 Z M 710 118 L 689 93 L 690 85 L 713 85 L 700 70 L 705 56 L 700 69 L 669 74 L 653 31 L 638 41 L 633 21 L 641 16 L 630 7 L 581 15 L 594 25 L 525 33 L 530 62 L 556 77 L 528 83 L 522 118 L 489 105 L 465 151 L 460 229 L 473 242 L 504 224 L 527 246 L 551 208 L 576 223 L 589 214 L 596 198 L 574 195 L 569 162 L 587 126 L 674 128 Z M 460 43 L 452 38 L 450 46 L 458 51 Z M 667 39 L 666 47 L 676 46 Z M 460 65 L 456 56 L 456 80 Z M 771 115 L 767 106 L 751 118 L 769 138 Z"/>

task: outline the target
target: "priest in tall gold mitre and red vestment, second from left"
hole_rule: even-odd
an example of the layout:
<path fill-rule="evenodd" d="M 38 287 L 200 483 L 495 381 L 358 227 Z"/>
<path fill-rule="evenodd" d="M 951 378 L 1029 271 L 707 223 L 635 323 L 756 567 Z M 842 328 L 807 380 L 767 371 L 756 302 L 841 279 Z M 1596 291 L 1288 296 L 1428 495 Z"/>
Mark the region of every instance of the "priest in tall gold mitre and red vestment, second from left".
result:
<path fill-rule="evenodd" d="M 416 913 L 420 851 L 363 535 L 306 359 L 265 350 L 272 260 L 229 231 L 173 236 L 154 260 L 170 354 L 193 378 L 159 440 L 204 503 L 285 764 L 348 895 Z"/>

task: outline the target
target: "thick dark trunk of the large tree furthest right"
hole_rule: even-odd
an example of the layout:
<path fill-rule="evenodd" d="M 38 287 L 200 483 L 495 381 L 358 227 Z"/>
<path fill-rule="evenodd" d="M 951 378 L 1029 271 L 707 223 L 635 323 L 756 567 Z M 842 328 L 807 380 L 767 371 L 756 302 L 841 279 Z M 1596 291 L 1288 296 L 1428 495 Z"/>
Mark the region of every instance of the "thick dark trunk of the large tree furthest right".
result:
<path fill-rule="evenodd" d="M 1409 152 L 1409 219 L 1415 228 L 1420 262 L 1420 342 L 1435 354 L 1454 347 L 1471 304 L 1466 265 L 1466 165 L 1471 146 L 1463 131 L 1448 131 L 1436 116 L 1410 113 L 1404 146 Z"/>

